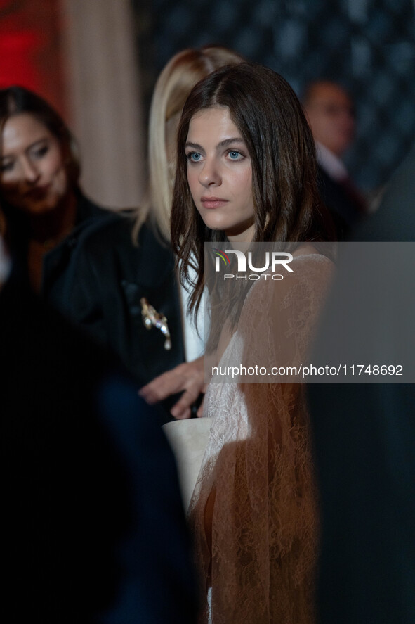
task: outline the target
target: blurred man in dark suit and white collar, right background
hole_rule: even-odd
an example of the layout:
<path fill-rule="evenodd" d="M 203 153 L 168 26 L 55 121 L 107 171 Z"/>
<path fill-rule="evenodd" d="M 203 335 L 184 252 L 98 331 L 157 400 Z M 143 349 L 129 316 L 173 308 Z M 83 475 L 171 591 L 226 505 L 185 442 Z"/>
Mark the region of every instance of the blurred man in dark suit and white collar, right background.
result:
<path fill-rule="evenodd" d="M 341 161 L 355 137 L 355 107 L 342 87 L 327 80 L 308 84 L 302 100 L 317 147 L 320 194 L 342 240 L 367 210 Z"/>

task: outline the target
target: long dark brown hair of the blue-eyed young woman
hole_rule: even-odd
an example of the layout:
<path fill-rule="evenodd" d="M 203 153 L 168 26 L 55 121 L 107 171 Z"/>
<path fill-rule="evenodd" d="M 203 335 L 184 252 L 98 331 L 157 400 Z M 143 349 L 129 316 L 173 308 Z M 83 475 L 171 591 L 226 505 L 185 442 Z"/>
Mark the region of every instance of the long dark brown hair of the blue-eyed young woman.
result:
<path fill-rule="evenodd" d="M 315 143 L 301 103 L 282 76 L 256 63 L 222 68 L 199 82 L 183 108 L 171 211 L 171 241 L 180 280 L 197 270 L 190 307 L 204 288 L 204 242 L 226 241 L 205 227 L 187 184 L 185 142 L 190 120 L 202 109 L 226 106 L 248 148 L 255 210 L 253 242 L 333 240 L 331 219 L 316 182 Z"/>

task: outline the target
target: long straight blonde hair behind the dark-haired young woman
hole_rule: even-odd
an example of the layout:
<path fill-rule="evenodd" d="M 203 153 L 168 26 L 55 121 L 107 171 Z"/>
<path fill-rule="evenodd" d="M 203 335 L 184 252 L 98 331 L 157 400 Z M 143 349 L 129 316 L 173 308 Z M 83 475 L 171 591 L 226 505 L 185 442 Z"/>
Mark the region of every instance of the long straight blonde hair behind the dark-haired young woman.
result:
<path fill-rule="evenodd" d="M 190 48 L 177 53 L 157 79 L 150 106 L 148 163 L 150 182 L 133 229 L 136 240 L 143 222 L 150 217 L 160 234 L 170 240 L 170 214 L 176 172 L 176 134 L 180 114 L 195 84 L 225 65 L 244 58 L 222 46 Z M 173 147 L 168 154 L 169 144 Z M 170 157 L 170 158 L 169 158 Z"/>

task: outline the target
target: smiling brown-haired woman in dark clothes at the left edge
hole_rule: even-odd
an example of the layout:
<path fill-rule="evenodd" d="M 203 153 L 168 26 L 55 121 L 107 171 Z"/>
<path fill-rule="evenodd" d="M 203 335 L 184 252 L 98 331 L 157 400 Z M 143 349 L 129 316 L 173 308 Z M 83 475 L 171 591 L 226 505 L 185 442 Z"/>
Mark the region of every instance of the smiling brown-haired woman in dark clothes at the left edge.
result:
<path fill-rule="evenodd" d="M 81 193 L 77 145 L 43 98 L 1 89 L 0 139 L 0 229 L 15 275 L 61 307 L 77 239 L 108 212 Z"/>

